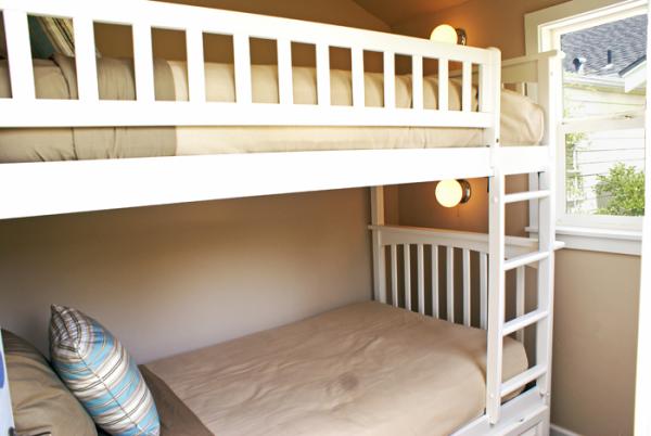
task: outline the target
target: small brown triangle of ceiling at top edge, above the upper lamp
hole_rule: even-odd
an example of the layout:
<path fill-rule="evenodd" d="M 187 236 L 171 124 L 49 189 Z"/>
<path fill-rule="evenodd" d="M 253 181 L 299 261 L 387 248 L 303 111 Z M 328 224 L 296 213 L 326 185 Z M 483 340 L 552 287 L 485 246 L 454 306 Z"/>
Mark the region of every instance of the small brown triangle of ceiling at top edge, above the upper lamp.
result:
<path fill-rule="evenodd" d="M 442 9 L 456 7 L 468 0 L 354 0 L 357 4 L 393 26 L 405 20 Z"/>

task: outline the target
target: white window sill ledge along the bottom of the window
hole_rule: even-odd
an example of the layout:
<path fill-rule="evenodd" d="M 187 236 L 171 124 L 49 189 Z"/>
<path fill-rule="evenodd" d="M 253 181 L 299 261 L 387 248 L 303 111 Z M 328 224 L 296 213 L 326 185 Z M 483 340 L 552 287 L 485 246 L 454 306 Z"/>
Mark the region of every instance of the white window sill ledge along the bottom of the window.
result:
<path fill-rule="evenodd" d="M 535 227 L 527 227 L 525 230 L 532 235 L 538 233 L 538 228 Z M 642 249 L 641 231 L 558 226 L 557 241 L 564 242 L 565 248 L 588 252 L 639 256 Z"/>

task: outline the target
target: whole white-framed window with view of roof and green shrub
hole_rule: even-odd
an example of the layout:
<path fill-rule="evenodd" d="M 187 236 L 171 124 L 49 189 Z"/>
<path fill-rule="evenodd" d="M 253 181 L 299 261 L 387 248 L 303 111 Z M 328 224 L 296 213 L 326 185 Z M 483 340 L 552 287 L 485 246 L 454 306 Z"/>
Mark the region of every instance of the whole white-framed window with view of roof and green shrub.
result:
<path fill-rule="evenodd" d="M 605 0 L 525 16 L 528 53 L 565 53 L 557 216 L 558 238 L 570 247 L 639 254 L 647 20 L 646 1 Z"/>

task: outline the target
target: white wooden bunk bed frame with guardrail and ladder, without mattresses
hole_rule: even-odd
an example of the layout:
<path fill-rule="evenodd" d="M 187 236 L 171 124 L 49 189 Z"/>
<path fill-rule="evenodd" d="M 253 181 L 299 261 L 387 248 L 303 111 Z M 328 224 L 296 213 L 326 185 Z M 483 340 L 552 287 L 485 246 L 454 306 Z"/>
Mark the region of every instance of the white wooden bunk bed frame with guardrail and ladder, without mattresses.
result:
<path fill-rule="evenodd" d="M 11 99 L 0 99 L 0 128 L 80 126 L 421 126 L 469 127 L 484 131 L 484 145 L 470 149 L 366 150 L 292 153 L 227 154 L 84 162 L 0 165 L 0 219 L 98 209 L 232 198 L 290 192 L 375 187 L 371 191 L 374 298 L 398 305 L 397 253 L 403 249 L 406 288 L 411 286 L 411 248 L 416 246 L 413 278 L 418 298 L 405 293 L 404 307 L 425 313 L 424 256 L 427 246 L 445 246 L 447 295 L 455 292 L 454 253 L 462 252 L 463 320 L 471 324 L 470 253 L 478 252 L 481 320 L 487 329 L 486 412 L 456 435 L 520 435 L 549 433 L 551 331 L 554 249 L 556 114 L 552 80 L 560 79 L 556 52 L 500 62 L 497 49 L 436 43 L 424 39 L 341 26 L 260 16 L 239 12 L 144 0 L 0 0 L 3 13 Z M 69 17 L 74 22 L 78 100 L 35 98 L 27 15 Z M 93 22 L 132 26 L 137 100 L 102 101 L 98 97 Z M 154 100 L 151 29 L 186 33 L 189 101 Z M 206 102 L 203 34 L 232 35 L 234 103 Z M 276 41 L 279 104 L 252 102 L 250 38 Z M 292 101 L 291 43 L 316 47 L 318 104 Z M 330 104 L 329 48 L 350 49 L 353 105 Z M 383 53 L 384 106 L 365 107 L 363 52 Z M 411 56 L 411 108 L 395 106 L 395 55 Z M 438 60 L 438 110 L 423 107 L 423 59 Z M 449 62 L 462 65 L 448 70 Z M 462 110 L 448 110 L 448 77 L 462 80 Z M 480 85 L 478 112 L 471 110 L 472 76 Z M 500 79 L 501 77 L 501 79 Z M 535 84 L 546 112 L 540 146 L 499 145 L 501 84 Z M 522 89 L 522 88 L 521 88 Z M 256 177 L 251 177 L 254 174 Z M 506 194 L 509 175 L 538 175 L 536 191 Z M 384 225 L 384 184 L 448 178 L 490 178 L 489 233 L 436 231 Z M 79 180 L 89 189 L 79 189 Z M 149 180 L 151 183 L 139 183 Z M 8 189 L 8 187 L 11 187 Z M 74 194 L 72 194 L 74 193 Z M 508 203 L 539 202 L 539 241 L 505 235 Z M 431 249 L 431 248 L 430 248 Z M 438 249 L 431 253 L 437 256 Z M 388 258 L 387 255 L 388 254 Z M 474 255 L 473 255 L 474 256 Z M 388 260 L 388 264 L 386 262 Z M 538 308 L 524 312 L 525 266 L 537 264 Z M 386 266 L 388 267 L 388 271 Z M 506 322 L 506 271 L 516 270 L 516 313 Z M 437 265 L 432 273 L 438 277 Z M 387 287 L 391 295 L 387 295 Z M 432 295 L 438 286 L 432 285 Z M 435 298 L 434 300 L 438 300 Z M 454 298 L 447 298 L 447 319 L 455 321 Z M 433 305 L 427 313 L 443 312 Z M 502 381 L 502 339 L 537 325 L 536 361 L 524 373 Z M 518 333 L 522 338 L 522 334 Z M 1 348 L 0 348 L 1 351 Z M 525 385 L 535 385 L 502 403 Z M 0 393 L 1 394 L 1 393 Z M 7 400 L 0 411 L 10 411 Z M 0 413 L 0 415 L 2 415 Z M 11 412 L 9 412 L 11 414 Z M 8 424 L 9 425 L 9 424 Z M 2 425 L 0 425 L 1 427 Z M 4 428 L 0 428 L 0 432 Z"/>

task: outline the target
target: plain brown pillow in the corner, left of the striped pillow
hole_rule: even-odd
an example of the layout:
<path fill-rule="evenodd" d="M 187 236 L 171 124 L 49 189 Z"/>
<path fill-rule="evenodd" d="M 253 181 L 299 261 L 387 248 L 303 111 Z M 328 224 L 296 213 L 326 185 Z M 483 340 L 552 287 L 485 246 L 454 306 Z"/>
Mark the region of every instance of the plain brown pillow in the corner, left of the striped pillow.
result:
<path fill-rule="evenodd" d="M 5 330 L 2 342 L 17 434 L 95 436 L 94 423 L 46 358 Z"/>

